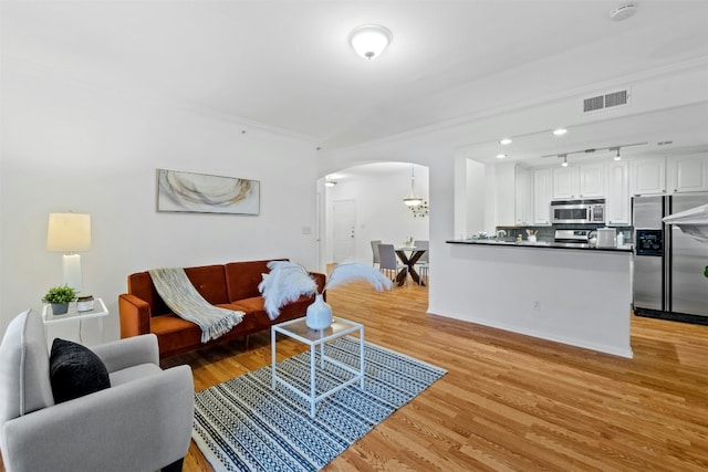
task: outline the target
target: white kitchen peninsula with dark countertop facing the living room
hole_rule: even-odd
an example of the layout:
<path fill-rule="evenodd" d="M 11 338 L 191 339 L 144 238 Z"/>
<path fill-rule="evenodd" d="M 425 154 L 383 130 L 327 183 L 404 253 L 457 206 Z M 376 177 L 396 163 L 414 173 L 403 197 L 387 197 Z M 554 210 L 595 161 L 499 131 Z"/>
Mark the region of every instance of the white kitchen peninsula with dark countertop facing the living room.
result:
<path fill-rule="evenodd" d="M 623 357 L 632 247 L 449 240 L 451 317 Z"/>

